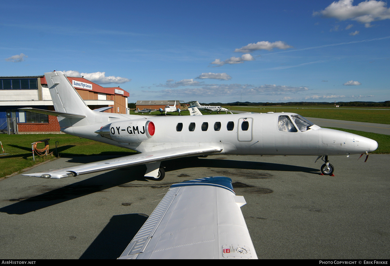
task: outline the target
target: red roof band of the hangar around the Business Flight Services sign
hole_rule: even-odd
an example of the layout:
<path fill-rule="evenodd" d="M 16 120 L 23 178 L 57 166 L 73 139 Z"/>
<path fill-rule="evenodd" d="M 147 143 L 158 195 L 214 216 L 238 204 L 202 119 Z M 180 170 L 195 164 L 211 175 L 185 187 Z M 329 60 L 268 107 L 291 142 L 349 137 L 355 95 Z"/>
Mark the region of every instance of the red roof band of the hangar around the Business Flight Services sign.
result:
<path fill-rule="evenodd" d="M 67 77 L 67 79 L 69 82 L 71 82 L 75 89 L 83 89 L 85 91 L 94 91 L 97 93 L 106 93 L 112 95 L 116 94 L 125 97 L 129 97 L 130 95 L 127 91 L 121 89 L 120 87 L 102 87 L 82 77 Z M 41 77 L 41 84 L 47 84 L 45 77 Z"/>

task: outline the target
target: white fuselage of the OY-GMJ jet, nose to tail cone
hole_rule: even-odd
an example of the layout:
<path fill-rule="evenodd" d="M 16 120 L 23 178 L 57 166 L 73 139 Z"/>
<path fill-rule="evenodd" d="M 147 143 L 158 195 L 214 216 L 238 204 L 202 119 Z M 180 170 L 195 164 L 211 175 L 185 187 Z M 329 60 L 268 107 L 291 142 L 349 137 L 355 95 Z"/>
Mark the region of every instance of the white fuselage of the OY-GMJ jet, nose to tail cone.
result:
<path fill-rule="evenodd" d="M 291 115 L 296 114 L 141 116 L 140 119 L 117 119 L 112 123 L 103 120 L 62 131 L 139 152 L 201 145 L 222 149 L 222 154 L 329 156 L 362 154 L 378 147 L 376 141 L 369 138 L 316 125 L 301 131 L 292 122 Z M 289 119 L 295 130 L 284 131 L 286 129 L 280 126 L 282 119 Z M 155 129 L 148 137 L 147 121 L 151 121 Z M 110 128 L 109 135 L 91 136 L 102 126 Z"/>

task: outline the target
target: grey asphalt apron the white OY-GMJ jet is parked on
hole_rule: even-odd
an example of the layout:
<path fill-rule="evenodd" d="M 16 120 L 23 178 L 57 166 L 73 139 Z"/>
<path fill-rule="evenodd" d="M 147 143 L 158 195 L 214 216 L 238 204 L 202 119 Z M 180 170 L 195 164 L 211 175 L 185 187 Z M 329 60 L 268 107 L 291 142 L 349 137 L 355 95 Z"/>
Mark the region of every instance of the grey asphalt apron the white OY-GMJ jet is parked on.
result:
<path fill-rule="evenodd" d="M 332 156 L 335 177 L 315 156 L 209 156 L 165 161 L 164 180 L 144 166 L 58 180 L 15 175 L 0 182 L 2 259 L 115 259 L 172 183 L 233 180 L 260 259 L 388 259 L 389 154 Z M 59 158 L 30 172 L 99 161 Z"/>

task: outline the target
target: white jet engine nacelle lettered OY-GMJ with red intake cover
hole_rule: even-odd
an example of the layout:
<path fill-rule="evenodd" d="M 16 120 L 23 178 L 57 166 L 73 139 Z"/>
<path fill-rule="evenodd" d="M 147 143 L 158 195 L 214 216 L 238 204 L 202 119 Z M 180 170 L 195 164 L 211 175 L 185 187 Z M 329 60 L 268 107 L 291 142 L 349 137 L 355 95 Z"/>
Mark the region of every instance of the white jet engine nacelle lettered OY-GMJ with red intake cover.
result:
<path fill-rule="evenodd" d="M 154 135 L 155 126 L 152 121 L 129 120 L 108 124 L 100 129 L 110 133 L 110 138 L 122 143 L 135 143 L 147 140 Z M 98 133 L 96 131 L 96 133 Z"/>

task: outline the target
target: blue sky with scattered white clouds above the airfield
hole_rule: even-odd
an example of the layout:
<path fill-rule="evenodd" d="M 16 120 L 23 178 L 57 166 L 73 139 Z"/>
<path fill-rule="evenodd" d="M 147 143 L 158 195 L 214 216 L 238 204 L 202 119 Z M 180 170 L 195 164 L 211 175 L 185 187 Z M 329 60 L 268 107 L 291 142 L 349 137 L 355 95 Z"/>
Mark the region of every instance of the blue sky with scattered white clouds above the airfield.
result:
<path fill-rule="evenodd" d="M 137 100 L 390 100 L 386 2 L 1 1 L 0 76 L 52 70 Z"/>

